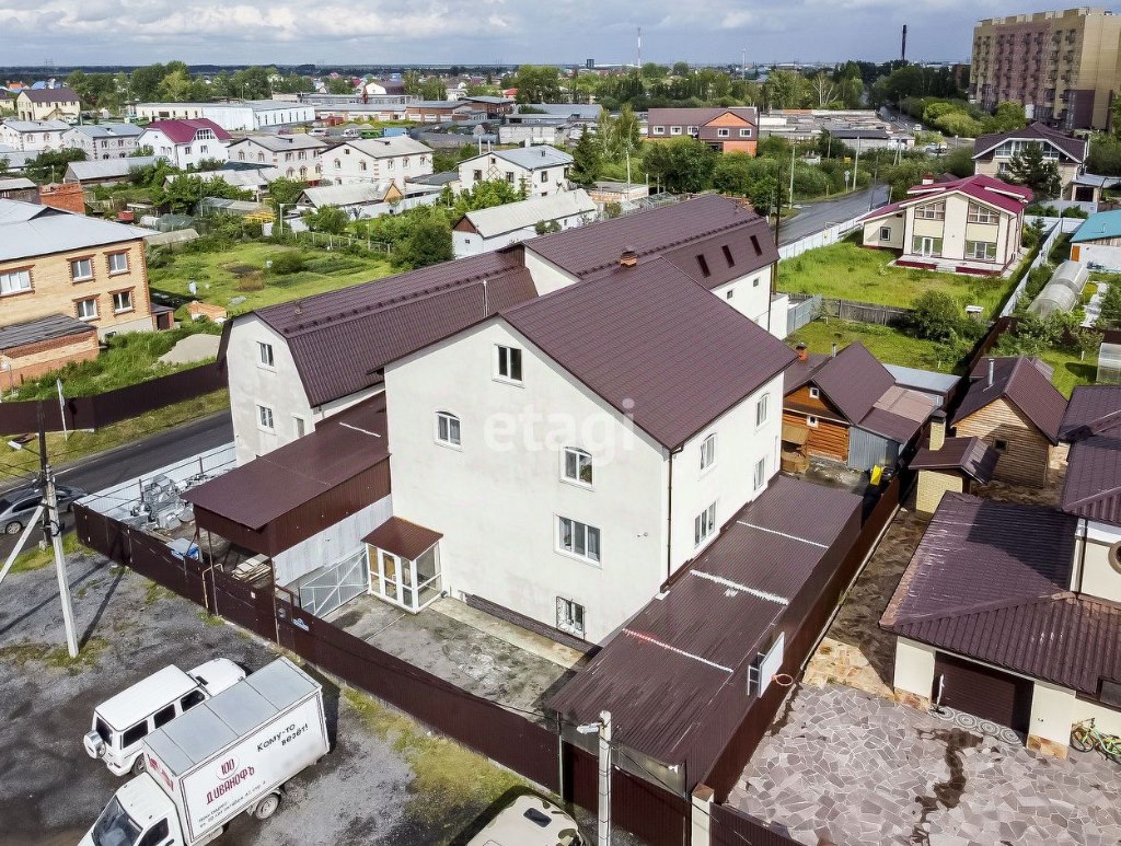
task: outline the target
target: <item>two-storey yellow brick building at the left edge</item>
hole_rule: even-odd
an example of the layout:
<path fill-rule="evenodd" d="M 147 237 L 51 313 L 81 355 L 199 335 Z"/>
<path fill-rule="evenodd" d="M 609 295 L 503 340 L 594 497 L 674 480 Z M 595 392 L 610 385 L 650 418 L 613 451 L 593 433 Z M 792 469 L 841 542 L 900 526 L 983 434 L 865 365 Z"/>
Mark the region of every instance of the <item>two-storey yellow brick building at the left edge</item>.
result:
<path fill-rule="evenodd" d="M 0 199 L 0 363 L 12 381 L 92 357 L 99 338 L 155 328 L 146 234 Z"/>

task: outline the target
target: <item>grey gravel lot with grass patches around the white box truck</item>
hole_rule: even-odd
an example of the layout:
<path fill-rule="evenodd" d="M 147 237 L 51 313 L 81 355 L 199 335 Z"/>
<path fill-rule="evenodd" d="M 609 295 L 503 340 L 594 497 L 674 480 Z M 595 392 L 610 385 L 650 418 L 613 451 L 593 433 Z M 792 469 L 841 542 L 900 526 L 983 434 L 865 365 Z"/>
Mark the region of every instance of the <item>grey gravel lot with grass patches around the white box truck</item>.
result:
<path fill-rule="evenodd" d="M 82 750 L 93 707 L 148 673 L 225 656 L 256 669 L 268 644 L 147 579 L 95 557 L 72 560 L 84 647 L 61 647 L 53 568 L 0 585 L 0 844 L 78 842 L 122 780 Z M 307 668 L 315 675 L 315 670 Z M 289 784 L 261 825 L 239 817 L 222 846 L 462 842 L 481 814 L 521 783 L 407 716 L 324 681 L 331 754 Z"/>

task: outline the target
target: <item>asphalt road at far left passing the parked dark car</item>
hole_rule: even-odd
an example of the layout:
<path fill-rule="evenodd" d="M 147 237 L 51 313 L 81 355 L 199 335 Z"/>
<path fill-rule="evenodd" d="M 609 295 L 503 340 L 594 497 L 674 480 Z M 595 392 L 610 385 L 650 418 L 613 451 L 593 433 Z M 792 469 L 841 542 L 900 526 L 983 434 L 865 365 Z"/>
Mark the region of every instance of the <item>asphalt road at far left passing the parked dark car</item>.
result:
<path fill-rule="evenodd" d="M 73 464 L 62 465 L 55 470 L 55 476 L 61 484 L 74 485 L 93 493 L 189 458 L 203 450 L 229 444 L 231 440 L 233 440 L 233 421 L 230 419 L 230 412 L 220 411 L 149 438 L 87 456 Z M 4 478 L 0 482 L 0 493 L 27 482 L 26 478 Z M 73 528 L 73 523 L 65 515 L 63 522 L 67 530 Z M 17 537 L 0 534 L 0 564 L 16 545 Z M 41 532 L 33 532 L 25 549 L 34 547 L 41 537 Z"/>

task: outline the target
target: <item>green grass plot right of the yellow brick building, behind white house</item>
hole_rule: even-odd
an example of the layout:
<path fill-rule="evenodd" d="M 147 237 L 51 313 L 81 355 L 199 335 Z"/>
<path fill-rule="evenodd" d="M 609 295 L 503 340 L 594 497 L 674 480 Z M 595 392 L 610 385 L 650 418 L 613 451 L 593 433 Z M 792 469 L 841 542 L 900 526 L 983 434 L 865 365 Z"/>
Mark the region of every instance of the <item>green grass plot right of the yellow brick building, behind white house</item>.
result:
<path fill-rule="evenodd" d="M 304 270 L 276 276 L 266 269 L 267 261 L 296 249 L 306 258 Z M 389 260 L 381 257 L 262 242 L 240 243 L 221 252 L 168 253 L 168 262 L 166 267 L 149 270 L 154 289 L 188 297 L 187 283 L 194 279 L 197 298 L 229 308 L 231 316 L 396 272 Z M 231 306 L 230 300 L 235 297 L 245 299 Z"/>

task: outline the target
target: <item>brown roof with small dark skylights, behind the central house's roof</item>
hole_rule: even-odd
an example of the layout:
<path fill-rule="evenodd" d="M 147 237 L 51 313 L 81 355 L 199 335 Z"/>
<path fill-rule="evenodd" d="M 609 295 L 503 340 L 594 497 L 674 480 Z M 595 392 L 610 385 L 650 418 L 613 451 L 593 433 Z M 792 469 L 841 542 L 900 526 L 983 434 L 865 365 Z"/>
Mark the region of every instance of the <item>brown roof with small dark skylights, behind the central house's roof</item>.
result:
<path fill-rule="evenodd" d="M 640 262 L 661 255 L 707 288 L 778 261 L 767 221 L 716 195 L 535 238 L 526 244 L 578 279 L 612 272 L 624 248 L 634 250 Z"/>

